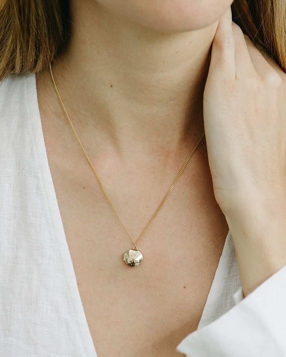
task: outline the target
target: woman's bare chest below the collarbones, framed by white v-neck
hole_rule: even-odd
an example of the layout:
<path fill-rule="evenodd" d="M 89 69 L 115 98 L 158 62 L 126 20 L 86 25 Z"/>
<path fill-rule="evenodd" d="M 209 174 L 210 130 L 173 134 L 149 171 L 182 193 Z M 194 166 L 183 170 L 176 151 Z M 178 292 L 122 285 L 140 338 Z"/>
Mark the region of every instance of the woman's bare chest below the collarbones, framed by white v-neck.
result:
<path fill-rule="evenodd" d="M 54 141 L 45 126 L 44 137 L 98 356 L 175 356 L 179 342 L 198 326 L 228 232 L 213 196 L 206 148 L 196 151 L 138 243 L 142 264 L 129 267 L 123 255 L 134 243 L 77 143 L 70 144 L 74 138 Z M 177 169 L 160 163 L 151 163 L 149 170 L 136 160 L 128 166 L 108 158 L 106 170 L 99 167 L 110 200 L 135 242 L 177 175 Z"/>

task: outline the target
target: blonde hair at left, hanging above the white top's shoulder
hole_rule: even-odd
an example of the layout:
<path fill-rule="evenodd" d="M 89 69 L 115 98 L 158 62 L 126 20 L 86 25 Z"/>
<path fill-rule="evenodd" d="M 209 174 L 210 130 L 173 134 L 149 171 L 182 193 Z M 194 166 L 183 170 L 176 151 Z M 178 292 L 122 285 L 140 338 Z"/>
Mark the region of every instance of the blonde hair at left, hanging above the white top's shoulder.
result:
<path fill-rule="evenodd" d="M 66 0 L 0 0 L 0 80 L 39 72 L 68 41 Z"/>

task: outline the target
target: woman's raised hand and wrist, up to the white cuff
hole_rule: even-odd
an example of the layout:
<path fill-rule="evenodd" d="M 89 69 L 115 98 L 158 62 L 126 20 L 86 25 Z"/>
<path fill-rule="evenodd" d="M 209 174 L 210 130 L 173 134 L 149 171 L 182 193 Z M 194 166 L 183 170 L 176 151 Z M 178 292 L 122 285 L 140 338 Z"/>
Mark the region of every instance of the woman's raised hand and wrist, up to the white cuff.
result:
<path fill-rule="evenodd" d="M 286 74 L 220 19 L 204 90 L 213 189 L 245 295 L 286 265 Z"/>

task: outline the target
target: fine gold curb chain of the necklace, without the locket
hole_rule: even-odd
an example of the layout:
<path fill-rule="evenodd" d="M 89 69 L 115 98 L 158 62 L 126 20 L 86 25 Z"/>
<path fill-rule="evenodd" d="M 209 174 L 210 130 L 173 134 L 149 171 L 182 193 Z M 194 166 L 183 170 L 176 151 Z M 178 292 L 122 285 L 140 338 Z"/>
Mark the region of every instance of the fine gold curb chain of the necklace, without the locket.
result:
<path fill-rule="evenodd" d="M 163 206 L 164 202 L 167 200 L 167 197 L 169 196 L 169 194 L 170 194 L 171 191 L 173 190 L 173 187 L 175 186 L 176 182 L 178 181 L 178 178 L 181 176 L 181 174 L 182 174 L 184 168 L 186 167 L 186 165 L 187 165 L 189 159 L 191 159 L 191 156 L 193 155 L 193 153 L 194 153 L 194 151 L 197 149 L 197 146 L 199 145 L 200 141 L 201 141 L 202 138 L 204 137 L 204 132 L 202 133 L 201 137 L 200 137 L 199 140 L 197 141 L 197 144 L 193 147 L 193 150 L 190 152 L 189 156 L 187 157 L 187 160 L 184 162 L 184 165 L 182 166 L 182 169 L 179 171 L 177 177 L 175 178 L 174 182 L 172 183 L 171 187 L 169 188 L 169 191 L 166 193 L 166 196 L 163 198 L 162 202 L 160 203 L 160 205 L 159 205 L 159 207 L 157 208 L 156 212 L 154 213 L 153 217 L 152 217 L 151 220 L 149 221 L 149 223 L 148 223 L 148 225 L 146 226 L 145 230 L 144 230 L 143 233 L 140 235 L 138 241 L 135 243 L 134 240 L 133 240 L 133 238 L 131 237 L 130 233 L 128 232 L 127 228 L 125 227 L 125 225 L 124 225 L 122 219 L 120 218 L 120 216 L 119 216 L 117 210 L 116 210 L 115 207 L 113 206 L 113 203 L 111 202 L 111 200 L 110 200 L 110 198 L 109 198 L 109 196 L 108 196 L 108 194 L 107 194 L 107 192 L 106 192 L 106 190 L 105 190 L 105 188 L 104 188 L 104 186 L 103 186 L 103 184 L 102 184 L 102 182 L 101 182 L 101 180 L 100 180 L 100 178 L 99 178 L 97 172 L 95 171 L 95 169 L 94 169 L 94 167 L 93 167 L 91 161 L 89 160 L 89 157 L 88 157 L 86 151 L 84 150 L 84 147 L 83 147 L 82 143 L 81 143 L 80 140 L 79 140 L 78 134 L 77 134 L 77 132 L 75 131 L 73 124 L 71 123 L 71 120 L 70 120 L 70 118 L 69 118 L 69 115 L 68 115 L 68 113 L 66 112 L 65 106 L 64 106 L 64 104 L 63 104 L 63 101 L 61 100 L 59 91 L 58 91 L 58 89 L 57 89 L 57 87 L 56 87 L 56 84 L 55 84 L 55 81 L 54 81 L 53 72 L 51 71 L 51 64 L 49 65 L 49 68 L 50 68 L 51 80 L 53 81 L 53 85 L 54 85 L 56 94 L 57 94 L 57 96 L 58 96 L 58 98 L 59 98 L 59 101 L 60 101 L 61 106 L 63 107 L 63 110 L 64 110 L 64 112 L 65 112 L 65 116 L 67 117 L 67 119 L 68 119 L 68 121 L 69 121 L 69 124 L 70 124 L 70 126 L 71 126 L 71 129 L 73 130 L 74 135 L 75 135 L 75 137 L 77 138 L 77 141 L 78 141 L 80 147 L 82 148 L 82 151 L 83 151 L 83 153 L 84 153 L 84 156 L 85 156 L 85 158 L 87 159 L 87 161 L 88 161 L 90 167 L 92 168 L 92 171 L 93 171 L 95 177 L 97 178 L 97 181 L 99 182 L 99 185 L 100 185 L 100 187 L 102 188 L 102 190 L 103 190 L 103 192 L 104 192 L 106 198 L 108 199 L 110 205 L 112 206 L 113 211 L 116 213 L 116 215 L 117 215 L 119 221 L 121 222 L 122 226 L 124 227 L 125 231 L 127 232 L 129 238 L 132 240 L 132 242 L 133 242 L 133 244 L 134 244 L 134 248 L 137 248 L 137 245 L 138 245 L 138 243 L 140 242 L 141 238 L 144 236 L 144 234 L 146 233 L 147 229 L 150 227 L 151 223 L 154 221 L 154 218 L 157 216 L 158 212 L 161 210 L 161 207 Z"/>

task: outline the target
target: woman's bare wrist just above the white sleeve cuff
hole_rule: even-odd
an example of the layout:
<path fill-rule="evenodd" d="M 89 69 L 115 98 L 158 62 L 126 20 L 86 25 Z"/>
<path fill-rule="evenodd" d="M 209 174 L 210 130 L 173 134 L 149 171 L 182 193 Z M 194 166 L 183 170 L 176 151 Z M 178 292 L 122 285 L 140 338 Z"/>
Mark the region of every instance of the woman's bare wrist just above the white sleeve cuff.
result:
<path fill-rule="evenodd" d="M 246 197 L 246 196 L 245 196 Z M 226 215 L 245 296 L 286 265 L 286 199 L 245 199 Z"/>

